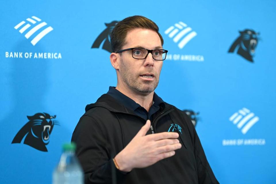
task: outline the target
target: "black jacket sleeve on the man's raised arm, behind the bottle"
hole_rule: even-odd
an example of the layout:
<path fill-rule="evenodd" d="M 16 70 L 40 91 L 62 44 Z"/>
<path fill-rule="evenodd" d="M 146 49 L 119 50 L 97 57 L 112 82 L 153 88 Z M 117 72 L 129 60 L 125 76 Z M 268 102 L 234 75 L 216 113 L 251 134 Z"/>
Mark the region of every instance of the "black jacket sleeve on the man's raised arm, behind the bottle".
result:
<path fill-rule="evenodd" d="M 94 118 L 81 117 L 71 142 L 76 143 L 76 156 L 84 170 L 85 184 L 124 181 L 126 174 L 116 169 L 112 160 L 115 155 L 110 154 L 106 136 Z"/>

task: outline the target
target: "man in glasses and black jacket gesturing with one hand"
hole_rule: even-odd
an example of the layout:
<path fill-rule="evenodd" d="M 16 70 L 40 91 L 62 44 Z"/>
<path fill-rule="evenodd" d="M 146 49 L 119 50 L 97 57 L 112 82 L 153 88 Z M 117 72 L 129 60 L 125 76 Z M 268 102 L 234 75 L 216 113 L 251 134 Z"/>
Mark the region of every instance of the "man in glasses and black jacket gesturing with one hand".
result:
<path fill-rule="evenodd" d="M 154 93 L 167 53 L 158 30 L 133 16 L 112 31 L 117 86 L 86 106 L 72 135 L 85 183 L 218 183 L 191 120 Z"/>

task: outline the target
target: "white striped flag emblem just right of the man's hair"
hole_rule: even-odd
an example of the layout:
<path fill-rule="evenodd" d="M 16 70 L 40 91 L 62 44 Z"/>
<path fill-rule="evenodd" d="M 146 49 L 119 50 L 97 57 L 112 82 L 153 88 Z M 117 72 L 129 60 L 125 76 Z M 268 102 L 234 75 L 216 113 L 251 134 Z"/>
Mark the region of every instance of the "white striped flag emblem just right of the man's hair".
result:
<path fill-rule="evenodd" d="M 179 42 L 178 47 L 180 49 L 182 49 L 191 39 L 193 39 L 193 37 L 197 35 L 196 32 L 192 31 L 192 28 L 187 27 L 187 24 L 181 21 L 176 23 L 174 26 L 170 26 L 165 31 L 165 34 L 168 34 L 170 38 L 173 38 L 175 43 Z"/>

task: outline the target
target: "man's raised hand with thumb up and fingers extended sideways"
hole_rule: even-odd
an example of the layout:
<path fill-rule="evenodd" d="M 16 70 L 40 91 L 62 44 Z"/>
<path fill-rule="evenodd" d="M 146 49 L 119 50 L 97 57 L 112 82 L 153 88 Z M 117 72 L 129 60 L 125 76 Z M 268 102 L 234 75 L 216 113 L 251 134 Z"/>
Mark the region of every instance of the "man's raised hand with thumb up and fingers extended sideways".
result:
<path fill-rule="evenodd" d="M 146 135 L 150 129 L 150 120 L 139 130 L 129 144 L 115 156 L 121 171 L 129 172 L 134 168 L 144 168 L 159 160 L 175 154 L 181 148 L 178 133 L 162 132 Z"/>

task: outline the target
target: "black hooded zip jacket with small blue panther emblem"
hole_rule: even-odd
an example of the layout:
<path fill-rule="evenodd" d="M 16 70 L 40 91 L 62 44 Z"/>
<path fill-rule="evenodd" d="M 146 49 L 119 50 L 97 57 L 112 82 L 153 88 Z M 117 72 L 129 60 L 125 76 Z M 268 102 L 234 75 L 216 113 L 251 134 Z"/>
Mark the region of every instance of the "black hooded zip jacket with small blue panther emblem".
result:
<path fill-rule="evenodd" d="M 87 105 L 85 111 L 72 135 L 85 183 L 218 183 L 191 120 L 176 107 L 165 103 L 152 125 L 155 133 L 168 132 L 169 128 L 178 132 L 181 149 L 170 158 L 129 173 L 116 169 L 112 158 L 132 140 L 145 120 L 107 94 Z"/>

